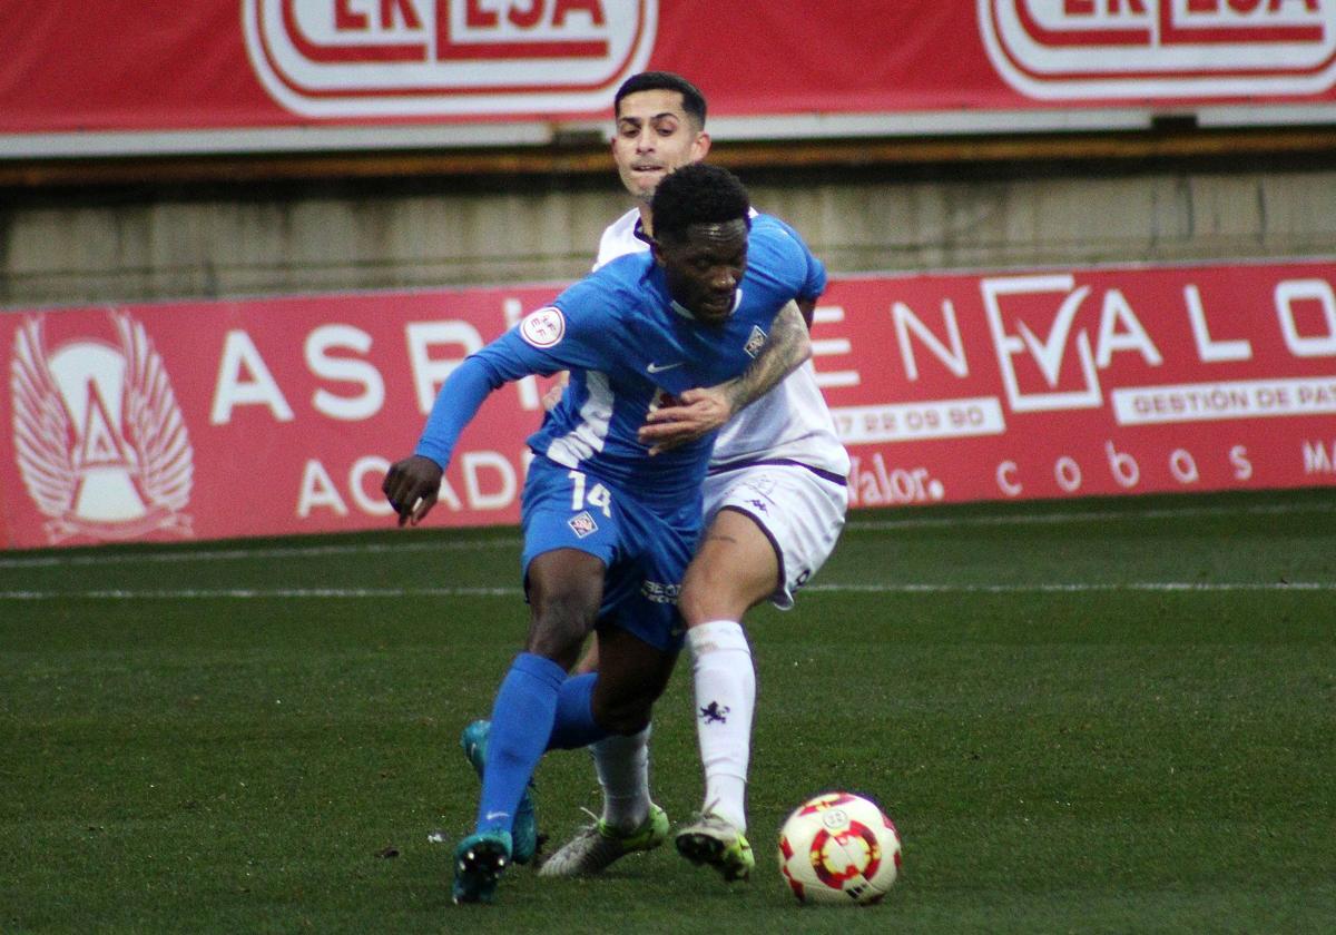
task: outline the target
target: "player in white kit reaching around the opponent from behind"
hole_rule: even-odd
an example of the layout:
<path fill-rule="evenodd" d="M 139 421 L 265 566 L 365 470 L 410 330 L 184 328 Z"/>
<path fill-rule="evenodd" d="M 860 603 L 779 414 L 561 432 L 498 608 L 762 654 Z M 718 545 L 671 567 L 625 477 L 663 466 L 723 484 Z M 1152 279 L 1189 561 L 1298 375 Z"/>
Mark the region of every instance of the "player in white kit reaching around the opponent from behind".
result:
<path fill-rule="evenodd" d="M 675 168 L 709 151 L 705 100 L 679 75 L 643 72 L 613 102 L 612 155 L 636 207 L 608 226 L 595 268 L 649 248 L 651 198 Z M 799 302 L 811 325 L 816 295 Z M 643 441 L 672 443 L 684 426 L 704 430 L 728 418 L 709 390 L 660 409 Z M 685 403 L 695 402 L 695 409 Z M 713 405 L 712 405 L 713 403 Z M 719 422 L 709 425 L 709 419 Z M 683 580 L 679 609 L 692 652 L 695 711 L 705 793 L 700 816 L 679 829 L 683 856 L 747 879 L 755 866 L 747 842 L 745 789 L 756 676 L 741 617 L 770 600 L 780 609 L 835 548 L 848 506 L 848 454 L 835 434 L 811 362 L 724 425 L 704 488 L 707 530 Z M 597 665 L 597 650 L 581 663 Z M 545 876 L 596 874 L 668 837 L 668 817 L 649 796 L 649 728 L 592 747 L 604 792 L 603 815 L 542 866 Z"/>

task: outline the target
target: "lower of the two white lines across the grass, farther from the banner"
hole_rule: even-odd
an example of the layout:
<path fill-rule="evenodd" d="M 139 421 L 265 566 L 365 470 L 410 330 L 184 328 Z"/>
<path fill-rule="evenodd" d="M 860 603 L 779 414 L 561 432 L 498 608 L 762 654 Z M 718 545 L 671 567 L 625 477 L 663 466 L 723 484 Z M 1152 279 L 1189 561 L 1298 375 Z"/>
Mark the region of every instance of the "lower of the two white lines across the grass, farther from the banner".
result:
<path fill-rule="evenodd" d="M 1083 594 L 1106 592 L 1221 593 L 1327 592 L 1336 581 L 1128 581 L 1122 584 L 820 584 L 803 589 L 823 594 Z M 398 600 L 406 597 L 520 597 L 518 588 L 180 588 L 143 590 L 0 590 L 0 601 L 183 601 L 183 600 Z"/>

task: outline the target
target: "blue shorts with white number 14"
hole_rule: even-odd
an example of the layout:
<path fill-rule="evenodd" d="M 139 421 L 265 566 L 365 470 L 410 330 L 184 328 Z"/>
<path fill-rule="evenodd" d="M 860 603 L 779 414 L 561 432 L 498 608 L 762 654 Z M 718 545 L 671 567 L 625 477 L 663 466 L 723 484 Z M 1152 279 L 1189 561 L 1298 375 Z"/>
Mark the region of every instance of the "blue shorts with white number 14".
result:
<path fill-rule="evenodd" d="M 604 564 L 599 622 L 664 652 L 681 649 L 677 593 L 700 537 L 700 500 L 664 510 L 542 455 L 529 465 L 520 505 L 524 573 L 552 549 L 578 549 Z"/>

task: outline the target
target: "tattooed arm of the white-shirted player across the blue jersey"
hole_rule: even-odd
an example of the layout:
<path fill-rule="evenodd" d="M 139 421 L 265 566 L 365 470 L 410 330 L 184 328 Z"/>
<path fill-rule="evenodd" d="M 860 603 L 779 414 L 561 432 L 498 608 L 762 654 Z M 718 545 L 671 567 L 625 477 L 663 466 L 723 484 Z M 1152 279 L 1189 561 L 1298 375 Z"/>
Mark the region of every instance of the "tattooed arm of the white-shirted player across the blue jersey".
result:
<path fill-rule="evenodd" d="M 640 443 L 651 454 L 685 445 L 721 427 L 743 409 L 760 399 L 812 355 L 807 322 L 796 302 L 790 301 L 771 325 L 770 335 L 747 370 L 715 386 L 681 393 L 680 406 L 664 406 L 647 417 Z"/>

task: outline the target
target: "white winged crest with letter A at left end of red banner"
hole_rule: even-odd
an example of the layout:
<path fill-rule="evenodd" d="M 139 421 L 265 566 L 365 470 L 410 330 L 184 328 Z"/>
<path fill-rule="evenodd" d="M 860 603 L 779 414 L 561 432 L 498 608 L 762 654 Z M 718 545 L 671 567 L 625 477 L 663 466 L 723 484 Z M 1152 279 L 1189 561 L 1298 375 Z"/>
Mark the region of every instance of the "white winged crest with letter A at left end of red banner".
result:
<path fill-rule="evenodd" d="M 110 319 L 116 345 L 79 337 L 48 351 L 40 315 L 15 331 L 13 447 L 52 545 L 191 534 L 194 449 L 176 394 L 144 326 Z"/>

